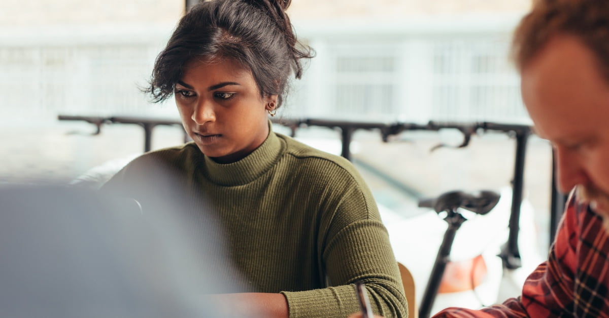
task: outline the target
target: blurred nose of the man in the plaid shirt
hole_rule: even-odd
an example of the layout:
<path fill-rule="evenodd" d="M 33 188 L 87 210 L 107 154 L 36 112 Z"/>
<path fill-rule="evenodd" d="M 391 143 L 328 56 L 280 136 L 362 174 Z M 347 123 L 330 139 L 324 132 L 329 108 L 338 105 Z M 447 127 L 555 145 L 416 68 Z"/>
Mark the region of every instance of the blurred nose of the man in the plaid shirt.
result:
<path fill-rule="evenodd" d="M 575 151 L 557 146 L 554 149 L 558 190 L 568 193 L 578 184 L 586 184 L 588 176 L 582 165 L 579 154 Z"/>

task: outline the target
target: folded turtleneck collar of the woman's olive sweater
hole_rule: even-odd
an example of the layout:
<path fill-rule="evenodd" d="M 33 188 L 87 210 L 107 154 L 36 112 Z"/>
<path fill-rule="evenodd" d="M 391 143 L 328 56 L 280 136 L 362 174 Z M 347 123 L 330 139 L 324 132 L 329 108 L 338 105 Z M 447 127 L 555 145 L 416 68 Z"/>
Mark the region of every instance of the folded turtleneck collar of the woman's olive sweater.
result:
<path fill-rule="evenodd" d="M 272 168 L 279 160 L 285 147 L 284 142 L 273 133 L 272 124 L 269 120 L 269 136 L 260 147 L 243 159 L 231 164 L 219 164 L 210 157 L 204 156 L 203 174 L 209 181 L 219 185 L 247 184 Z"/>

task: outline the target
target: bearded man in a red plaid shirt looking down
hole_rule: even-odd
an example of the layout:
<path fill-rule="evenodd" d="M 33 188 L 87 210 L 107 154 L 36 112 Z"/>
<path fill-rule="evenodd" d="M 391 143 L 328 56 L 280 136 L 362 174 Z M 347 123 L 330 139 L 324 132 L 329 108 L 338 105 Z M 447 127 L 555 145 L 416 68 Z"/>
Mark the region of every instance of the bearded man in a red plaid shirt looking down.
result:
<path fill-rule="evenodd" d="M 524 104 L 572 190 L 547 261 L 522 296 L 437 317 L 609 317 L 609 1 L 539 0 L 516 29 Z"/>

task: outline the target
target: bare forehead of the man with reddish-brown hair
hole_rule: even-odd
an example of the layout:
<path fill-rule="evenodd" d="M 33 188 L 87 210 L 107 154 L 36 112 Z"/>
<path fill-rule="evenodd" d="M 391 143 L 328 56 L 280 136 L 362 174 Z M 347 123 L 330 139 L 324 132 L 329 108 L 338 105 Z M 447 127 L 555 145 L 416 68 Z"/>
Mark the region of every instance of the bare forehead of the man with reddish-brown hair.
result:
<path fill-rule="evenodd" d="M 609 127 L 609 83 L 574 36 L 547 43 L 523 68 L 521 89 L 540 137 L 569 143 Z"/>

